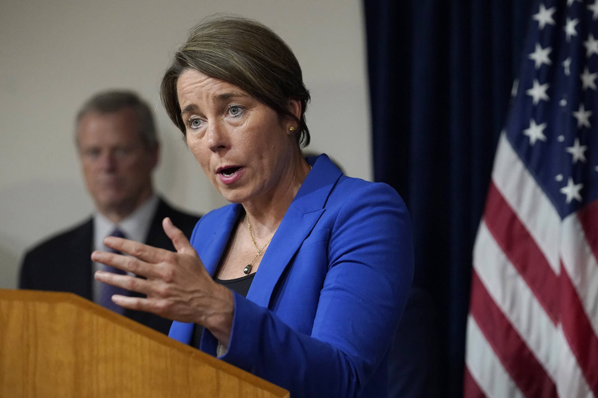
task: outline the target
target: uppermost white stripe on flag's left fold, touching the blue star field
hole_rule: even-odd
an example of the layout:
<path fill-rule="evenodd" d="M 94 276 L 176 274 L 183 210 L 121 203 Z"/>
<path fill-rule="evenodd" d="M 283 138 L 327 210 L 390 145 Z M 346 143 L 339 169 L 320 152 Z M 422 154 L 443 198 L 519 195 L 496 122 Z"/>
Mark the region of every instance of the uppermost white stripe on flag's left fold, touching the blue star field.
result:
<path fill-rule="evenodd" d="M 559 274 L 559 214 L 504 132 L 496 150 L 492 181 L 533 236 L 553 272 Z"/>

